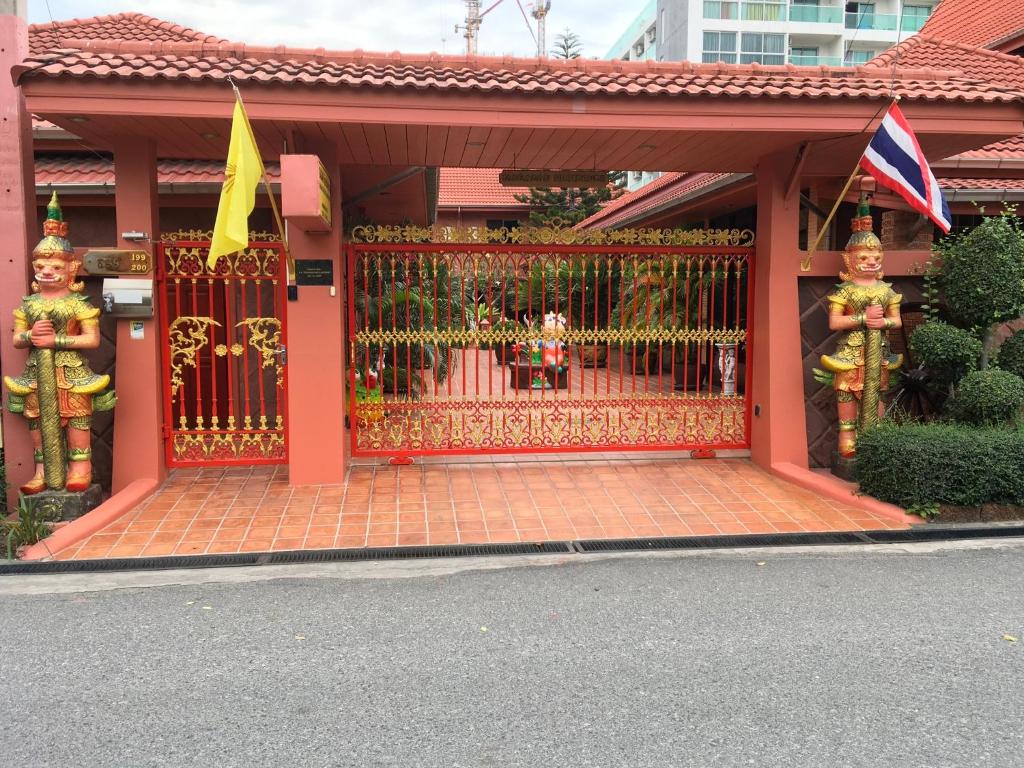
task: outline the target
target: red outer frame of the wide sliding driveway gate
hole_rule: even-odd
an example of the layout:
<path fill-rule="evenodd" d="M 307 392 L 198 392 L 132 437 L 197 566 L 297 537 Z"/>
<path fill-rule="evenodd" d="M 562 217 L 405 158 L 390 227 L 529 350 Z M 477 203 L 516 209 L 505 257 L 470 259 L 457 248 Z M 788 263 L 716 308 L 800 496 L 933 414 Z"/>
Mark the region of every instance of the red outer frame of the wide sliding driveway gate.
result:
<path fill-rule="evenodd" d="M 368 230 L 377 230 L 379 233 L 381 228 L 379 227 L 366 227 Z M 400 229 L 400 227 L 399 227 Z M 429 231 L 429 230 L 428 230 Z M 503 230 L 483 230 L 485 232 L 497 233 L 501 232 L 503 236 L 507 236 L 509 232 Z M 529 231 L 528 229 L 526 231 Z M 556 232 L 559 230 L 555 230 Z M 607 232 L 611 234 L 613 230 Z M 634 230 L 634 231 L 649 231 L 649 230 Z M 664 230 L 655 230 L 664 231 Z M 673 230 L 679 231 L 679 230 Z M 376 238 L 367 242 L 355 242 L 349 241 L 344 244 L 345 251 L 345 266 L 346 266 L 346 279 L 347 279 L 347 301 L 348 308 L 346 312 L 346 344 L 344 350 L 345 357 L 345 381 L 348 385 L 348 397 L 347 400 L 347 412 L 349 420 L 349 451 L 350 456 L 358 458 L 387 458 L 390 454 L 391 461 L 397 463 L 412 462 L 411 457 L 413 456 L 469 456 L 472 454 L 483 454 L 490 456 L 515 456 L 517 454 L 584 454 L 584 453 L 625 453 L 625 452 L 691 452 L 694 456 L 698 458 L 706 458 L 705 456 L 698 456 L 701 452 L 711 452 L 711 456 L 714 456 L 716 451 L 750 451 L 751 449 L 751 432 L 753 427 L 753 417 L 754 417 L 754 399 L 752 396 L 752 386 L 753 386 L 753 373 L 754 373 L 754 296 L 755 296 L 755 260 L 757 257 L 757 247 L 754 243 L 754 232 L 751 230 L 699 230 L 699 232 L 686 231 L 685 234 L 706 234 L 715 237 L 715 232 L 727 232 L 731 234 L 733 242 L 742 241 L 749 238 L 749 243 L 743 245 L 626 245 L 625 243 L 604 243 L 604 244 L 587 244 L 578 243 L 575 245 L 566 245 L 564 243 L 559 243 L 558 240 L 554 240 L 551 243 L 538 243 L 530 242 L 528 240 L 523 240 L 522 242 L 487 242 L 486 237 L 482 240 L 463 238 L 461 241 L 455 240 L 431 240 L 430 242 L 416 242 L 415 240 L 392 240 L 385 238 Z M 459 231 L 459 234 L 465 236 L 465 231 Z M 581 236 L 586 237 L 592 233 L 590 231 L 583 231 Z M 719 236 L 721 237 L 721 236 Z M 469 242 L 466 242 L 466 241 Z M 511 240 L 511 238 L 510 238 Z M 746 327 L 743 329 L 745 332 L 745 338 L 743 343 L 746 345 L 746 357 L 745 366 L 746 370 L 743 377 L 743 440 L 742 444 L 737 445 L 735 443 L 703 443 L 698 445 L 542 445 L 542 446 L 530 446 L 530 447 L 517 447 L 517 449 L 503 449 L 503 447 L 474 447 L 474 449 L 414 449 L 410 451 L 392 451 L 388 453 L 385 452 L 368 452 L 361 451 L 357 446 L 357 429 L 358 421 L 356 419 L 356 400 L 355 400 L 355 368 L 354 360 L 351 359 L 351 350 L 354 348 L 355 344 L 355 334 L 357 329 L 355 328 L 355 275 L 356 270 L 356 258 L 359 253 L 372 254 L 372 253 L 386 253 L 386 252 L 415 252 L 417 249 L 424 249 L 428 252 L 437 251 L 460 251 L 466 253 L 494 253 L 496 251 L 510 251 L 515 252 L 535 252 L 540 249 L 544 249 L 547 254 L 573 254 L 581 253 L 587 249 L 592 248 L 596 253 L 615 253 L 618 251 L 628 251 L 630 254 L 687 254 L 687 255 L 703 255 L 703 256 L 714 256 L 714 255 L 743 255 L 746 257 Z M 566 400 L 566 402 L 571 402 L 571 400 Z"/>

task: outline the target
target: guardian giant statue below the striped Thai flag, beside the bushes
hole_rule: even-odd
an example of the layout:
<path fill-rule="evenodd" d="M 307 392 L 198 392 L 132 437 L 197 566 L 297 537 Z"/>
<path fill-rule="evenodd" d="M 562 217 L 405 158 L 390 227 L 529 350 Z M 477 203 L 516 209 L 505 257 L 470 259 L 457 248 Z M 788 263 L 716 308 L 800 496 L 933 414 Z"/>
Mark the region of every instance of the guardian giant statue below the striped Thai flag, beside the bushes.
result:
<path fill-rule="evenodd" d="M 828 328 L 842 335 L 835 354 L 821 355 L 838 401 L 840 459 L 853 457 L 857 433 L 882 418 L 889 374 L 903 362 L 902 355 L 890 354 L 886 334 L 902 326 L 899 304 L 903 297 L 882 281 L 884 254 L 871 230 L 866 196 L 861 195 L 852 229 L 843 252 L 843 282 L 827 297 Z"/>

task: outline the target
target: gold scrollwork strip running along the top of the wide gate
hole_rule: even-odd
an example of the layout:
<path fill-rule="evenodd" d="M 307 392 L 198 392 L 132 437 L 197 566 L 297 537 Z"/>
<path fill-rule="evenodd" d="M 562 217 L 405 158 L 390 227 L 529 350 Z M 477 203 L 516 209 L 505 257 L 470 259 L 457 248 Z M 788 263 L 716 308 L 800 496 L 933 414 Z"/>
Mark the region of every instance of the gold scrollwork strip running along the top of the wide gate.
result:
<path fill-rule="evenodd" d="M 567 246 L 728 246 L 750 248 L 753 229 L 570 229 L 553 226 L 414 226 L 364 224 L 352 227 L 353 243 L 458 243 Z"/>

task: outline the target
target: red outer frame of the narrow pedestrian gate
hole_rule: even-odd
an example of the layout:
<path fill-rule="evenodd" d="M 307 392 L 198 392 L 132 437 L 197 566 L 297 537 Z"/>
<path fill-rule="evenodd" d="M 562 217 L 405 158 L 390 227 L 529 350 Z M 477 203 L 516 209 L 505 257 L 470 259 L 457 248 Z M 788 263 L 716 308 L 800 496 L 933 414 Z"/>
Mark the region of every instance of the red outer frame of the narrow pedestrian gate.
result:
<path fill-rule="evenodd" d="M 175 236 L 183 234 L 185 237 L 177 239 Z M 196 236 L 204 236 L 203 240 L 195 239 Z M 266 240 L 261 240 L 259 238 L 266 237 Z M 161 424 L 161 434 L 164 440 L 164 461 L 169 469 L 179 469 L 179 468 L 202 468 L 202 467 L 239 467 L 239 466 L 256 466 L 256 465 L 266 465 L 266 466 L 287 466 L 290 458 L 289 451 L 289 439 L 288 439 L 288 361 L 287 356 L 283 366 L 283 384 L 282 392 L 283 396 L 278 402 L 281 409 L 282 423 L 284 427 L 282 429 L 282 435 L 284 437 L 284 453 L 282 457 L 278 458 L 245 458 L 245 459 L 214 459 L 209 461 L 199 461 L 199 460 L 181 460 L 174 456 L 174 433 L 177 431 L 174 426 L 173 418 L 173 398 L 171 397 L 170 388 L 170 368 L 171 368 L 171 346 L 170 346 L 170 323 L 168 314 L 168 298 L 167 298 L 167 284 L 168 284 L 168 272 L 167 272 L 167 261 L 166 261 L 166 249 L 168 248 L 205 248 L 209 250 L 211 246 L 212 232 L 207 231 L 185 231 L 185 232 L 172 232 L 171 234 L 165 234 L 157 243 L 156 246 L 156 290 L 159 293 L 159 312 L 160 312 L 160 361 L 161 361 L 161 388 L 162 397 L 164 403 L 164 423 Z M 278 306 L 281 310 L 281 337 L 282 345 L 287 346 L 288 343 L 288 259 L 287 254 L 284 249 L 284 244 L 276 239 L 275 236 L 262 233 L 250 232 L 249 234 L 249 248 L 272 248 L 278 251 L 279 254 L 279 274 L 278 274 Z M 197 275 L 197 278 L 209 276 L 209 275 Z M 172 279 L 173 280 L 173 279 Z M 213 280 L 218 280 L 213 278 Z M 214 430 L 207 430 L 214 431 Z M 227 431 L 227 430 L 219 430 Z M 264 430 L 261 429 L 237 429 L 233 430 L 234 433 L 240 434 L 251 434 L 251 433 L 263 433 Z M 276 430 L 274 430 L 276 431 Z"/>

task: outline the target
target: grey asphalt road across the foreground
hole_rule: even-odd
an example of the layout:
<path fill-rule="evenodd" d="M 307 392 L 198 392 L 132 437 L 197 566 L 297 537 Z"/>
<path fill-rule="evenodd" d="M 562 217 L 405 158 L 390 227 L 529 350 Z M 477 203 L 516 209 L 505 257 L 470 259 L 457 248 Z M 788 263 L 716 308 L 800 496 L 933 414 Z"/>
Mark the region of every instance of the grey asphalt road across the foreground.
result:
<path fill-rule="evenodd" d="M 973 544 L 2 578 L 0 755 L 1024 766 L 1022 564 Z"/>

